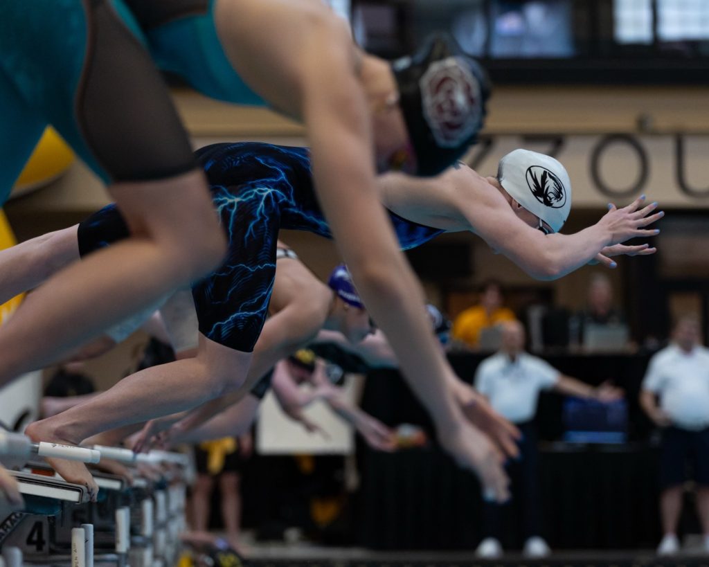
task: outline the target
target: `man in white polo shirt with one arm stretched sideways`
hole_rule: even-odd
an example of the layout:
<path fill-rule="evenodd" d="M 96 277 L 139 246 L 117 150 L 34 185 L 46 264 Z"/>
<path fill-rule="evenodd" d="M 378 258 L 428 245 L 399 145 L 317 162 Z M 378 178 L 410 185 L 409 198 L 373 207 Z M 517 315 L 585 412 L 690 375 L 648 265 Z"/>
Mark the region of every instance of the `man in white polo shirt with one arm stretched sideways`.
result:
<path fill-rule="evenodd" d="M 603 384 L 588 386 L 575 378 L 564 376 L 546 361 L 524 352 L 525 330 L 519 321 L 502 325 L 502 346 L 499 352 L 480 363 L 475 375 L 476 389 L 487 398 L 496 412 L 513 422 L 522 432 L 518 442 L 520 458 L 508 464 L 513 498 L 519 498 L 523 509 L 525 546 L 523 554 L 542 557 L 549 554 L 541 532 L 541 495 L 538 471 L 537 432 L 533 423 L 537 400 L 542 390 L 553 389 L 577 398 L 593 398 L 608 402 L 623 394 L 618 388 Z M 503 506 L 486 503 L 484 509 L 485 538 L 478 546 L 480 557 L 502 555 L 499 541 Z"/>

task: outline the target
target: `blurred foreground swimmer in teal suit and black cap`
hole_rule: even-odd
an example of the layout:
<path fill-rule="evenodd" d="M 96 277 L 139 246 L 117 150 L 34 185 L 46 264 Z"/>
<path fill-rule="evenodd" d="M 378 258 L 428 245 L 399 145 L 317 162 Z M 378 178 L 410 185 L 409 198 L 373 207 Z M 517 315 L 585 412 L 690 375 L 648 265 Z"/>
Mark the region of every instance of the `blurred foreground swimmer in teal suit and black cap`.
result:
<path fill-rule="evenodd" d="M 401 347 L 408 348 L 402 358 L 412 376 L 444 373 L 412 305 L 421 291 L 376 202 L 375 176 L 391 167 L 437 174 L 482 128 L 486 77 L 450 36 L 389 64 L 359 50 L 346 23 L 319 1 L 40 0 L 27 9 L 9 0 L 0 38 L 9 118 L 0 190 L 9 191 L 43 126 L 53 123 L 112 183 L 133 235 L 67 269 L 21 308 L 0 332 L 0 383 L 194 281 L 223 251 L 153 61 L 208 96 L 267 104 L 306 126 L 318 196 L 360 290 L 381 325 L 406 329 L 401 344 L 411 346 Z M 367 219 L 366 236 L 353 209 Z M 369 241 L 366 257 L 347 244 L 355 237 Z M 147 278 L 150 266 L 157 271 Z M 450 400 L 423 389 L 437 420 L 452 427 Z"/>

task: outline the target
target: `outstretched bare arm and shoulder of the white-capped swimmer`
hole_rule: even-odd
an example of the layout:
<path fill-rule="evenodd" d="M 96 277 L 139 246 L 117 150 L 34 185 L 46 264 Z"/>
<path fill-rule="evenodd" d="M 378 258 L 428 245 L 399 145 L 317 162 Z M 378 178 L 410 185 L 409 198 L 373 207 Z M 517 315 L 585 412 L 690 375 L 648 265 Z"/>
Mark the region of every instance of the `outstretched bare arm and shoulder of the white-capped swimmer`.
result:
<path fill-rule="evenodd" d="M 611 207 L 595 225 L 572 235 L 545 235 L 513 212 L 500 190 L 469 167 L 451 169 L 436 179 L 406 179 L 391 174 L 380 180 L 389 208 L 404 218 L 448 231 L 469 230 L 482 237 L 536 279 L 557 279 L 593 261 L 614 267 L 610 256 L 652 254 L 647 245 L 627 247 L 633 237 L 652 237 L 648 229 L 664 213 L 644 197 L 625 208 Z M 600 255 L 599 255 L 600 254 Z"/>

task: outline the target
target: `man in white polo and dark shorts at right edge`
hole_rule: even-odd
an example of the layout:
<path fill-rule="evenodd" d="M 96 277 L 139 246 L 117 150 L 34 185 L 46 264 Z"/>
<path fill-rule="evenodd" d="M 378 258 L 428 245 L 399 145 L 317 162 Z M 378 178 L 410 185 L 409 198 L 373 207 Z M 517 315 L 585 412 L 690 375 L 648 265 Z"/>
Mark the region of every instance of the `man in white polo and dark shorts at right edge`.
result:
<path fill-rule="evenodd" d="M 660 457 L 661 555 L 679 551 L 677 522 L 682 510 L 687 464 L 696 482 L 697 512 L 709 553 L 709 349 L 700 345 L 696 315 L 677 320 L 672 342 L 650 359 L 640 405 L 664 428 Z M 659 397 L 659 405 L 657 398 Z"/>

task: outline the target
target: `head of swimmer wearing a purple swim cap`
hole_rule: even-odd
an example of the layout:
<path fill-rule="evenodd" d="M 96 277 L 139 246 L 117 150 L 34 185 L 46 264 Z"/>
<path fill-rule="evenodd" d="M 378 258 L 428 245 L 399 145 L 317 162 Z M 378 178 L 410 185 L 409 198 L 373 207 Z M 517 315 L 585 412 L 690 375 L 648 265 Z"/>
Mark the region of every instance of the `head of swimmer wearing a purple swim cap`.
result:
<path fill-rule="evenodd" d="M 350 342 L 360 342 L 374 332 L 376 327 L 364 308 L 345 264 L 333 270 L 328 286 L 335 292 L 334 318 L 337 320 L 337 330 Z"/>

